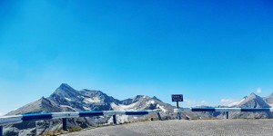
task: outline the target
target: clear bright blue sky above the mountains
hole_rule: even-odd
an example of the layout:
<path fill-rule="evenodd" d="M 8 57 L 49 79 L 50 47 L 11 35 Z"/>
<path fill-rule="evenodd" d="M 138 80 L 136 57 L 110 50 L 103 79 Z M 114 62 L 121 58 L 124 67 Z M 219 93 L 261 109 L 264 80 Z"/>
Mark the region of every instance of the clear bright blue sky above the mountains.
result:
<path fill-rule="evenodd" d="M 273 92 L 270 0 L 0 1 L 0 112 L 61 83 L 181 106 Z"/>

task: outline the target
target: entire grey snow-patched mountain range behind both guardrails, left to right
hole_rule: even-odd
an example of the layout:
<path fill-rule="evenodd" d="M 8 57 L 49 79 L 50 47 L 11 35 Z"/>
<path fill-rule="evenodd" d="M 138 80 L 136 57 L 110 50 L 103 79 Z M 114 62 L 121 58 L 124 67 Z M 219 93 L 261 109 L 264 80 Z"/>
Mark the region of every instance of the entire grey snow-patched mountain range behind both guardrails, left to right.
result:
<path fill-rule="evenodd" d="M 228 104 L 228 107 L 239 108 L 269 108 L 273 105 L 273 93 L 262 98 L 251 93 L 239 102 Z M 222 107 L 222 106 L 220 106 Z M 137 95 L 126 100 L 117 100 L 106 93 L 95 90 L 83 89 L 76 91 L 66 83 L 62 83 L 49 97 L 26 104 L 25 106 L 9 112 L 6 115 L 17 115 L 36 112 L 78 112 L 78 111 L 136 111 L 160 109 L 163 120 L 176 119 L 176 107 L 162 102 L 156 96 Z M 119 123 L 130 121 L 144 121 L 156 115 L 147 116 L 117 116 Z M 223 112 L 183 112 L 184 119 L 211 119 L 224 118 Z M 230 112 L 229 118 L 272 118 L 271 112 Z M 87 128 L 98 124 L 112 123 L 112 117 L 99 116 L 91 118 L 76 118 L 68 120 L 68 127 Z M 24 121 L 23 123 L 5 127 L 5 135 L 36 135 L 46 131 L 61 130 L 61 120 L 53 121 Z"/>

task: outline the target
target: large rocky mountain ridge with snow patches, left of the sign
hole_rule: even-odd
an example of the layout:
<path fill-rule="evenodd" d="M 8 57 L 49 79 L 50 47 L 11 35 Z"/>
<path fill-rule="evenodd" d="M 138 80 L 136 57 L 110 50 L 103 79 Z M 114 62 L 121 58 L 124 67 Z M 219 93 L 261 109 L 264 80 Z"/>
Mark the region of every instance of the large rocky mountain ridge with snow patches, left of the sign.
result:
<path fill-rule="evenodd" d="M 156 97 L 155 97 L 156 98 Z M 139 111 L 161 109 L 163 119 L 174 119 L 174 106 L 145 95 L 119 101 L 101 91 L 83 89 L 76 91 L 66 83 L 62 83 L 49 97 L 26 104 L 7 115 L 17 115 L 36 112 L 79 112 L 79 111 Z M 120 123 L 128 121 L 147 120 L 155 115 L 143 117 L 117 116 Z M 82 128 L 101 123 L 111 123 L 111 117 L 91 117 L 68 120 L 70 127 Z M 48 124 L 51 124 L 48 126 Z M 47 125 L 43 130 L 41 126 Z M 37 129 L 39 128 L 39 129 Z M 46 131 L 61 129 L 60 121 L 30 121 L 5 127 L 5 135 L 36 135 Z"/>

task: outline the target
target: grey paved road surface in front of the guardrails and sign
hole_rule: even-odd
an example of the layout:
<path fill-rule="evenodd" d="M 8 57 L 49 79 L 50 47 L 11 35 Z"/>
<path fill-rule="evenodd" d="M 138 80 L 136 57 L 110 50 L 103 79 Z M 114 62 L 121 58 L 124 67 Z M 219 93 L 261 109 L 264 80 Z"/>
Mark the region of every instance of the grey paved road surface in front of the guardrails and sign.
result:
<path fill-rule="evenodd" d="M 62 136 L 273 135 L 273 120 L 143 121 Z"/>

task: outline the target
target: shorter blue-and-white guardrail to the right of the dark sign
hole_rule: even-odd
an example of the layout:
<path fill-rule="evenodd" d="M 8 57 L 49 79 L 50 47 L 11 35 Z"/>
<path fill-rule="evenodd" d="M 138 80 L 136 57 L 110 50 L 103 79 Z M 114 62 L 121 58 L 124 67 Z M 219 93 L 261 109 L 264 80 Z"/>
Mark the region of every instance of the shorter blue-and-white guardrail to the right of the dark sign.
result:
<path fill-rule="evenodd" d="M 181 112 L 225 112 L 228 119 L 228 112 L 273 112 L 273 108 L 179 108 L 175 109 L 177 117 L 181 119 Z"/>

